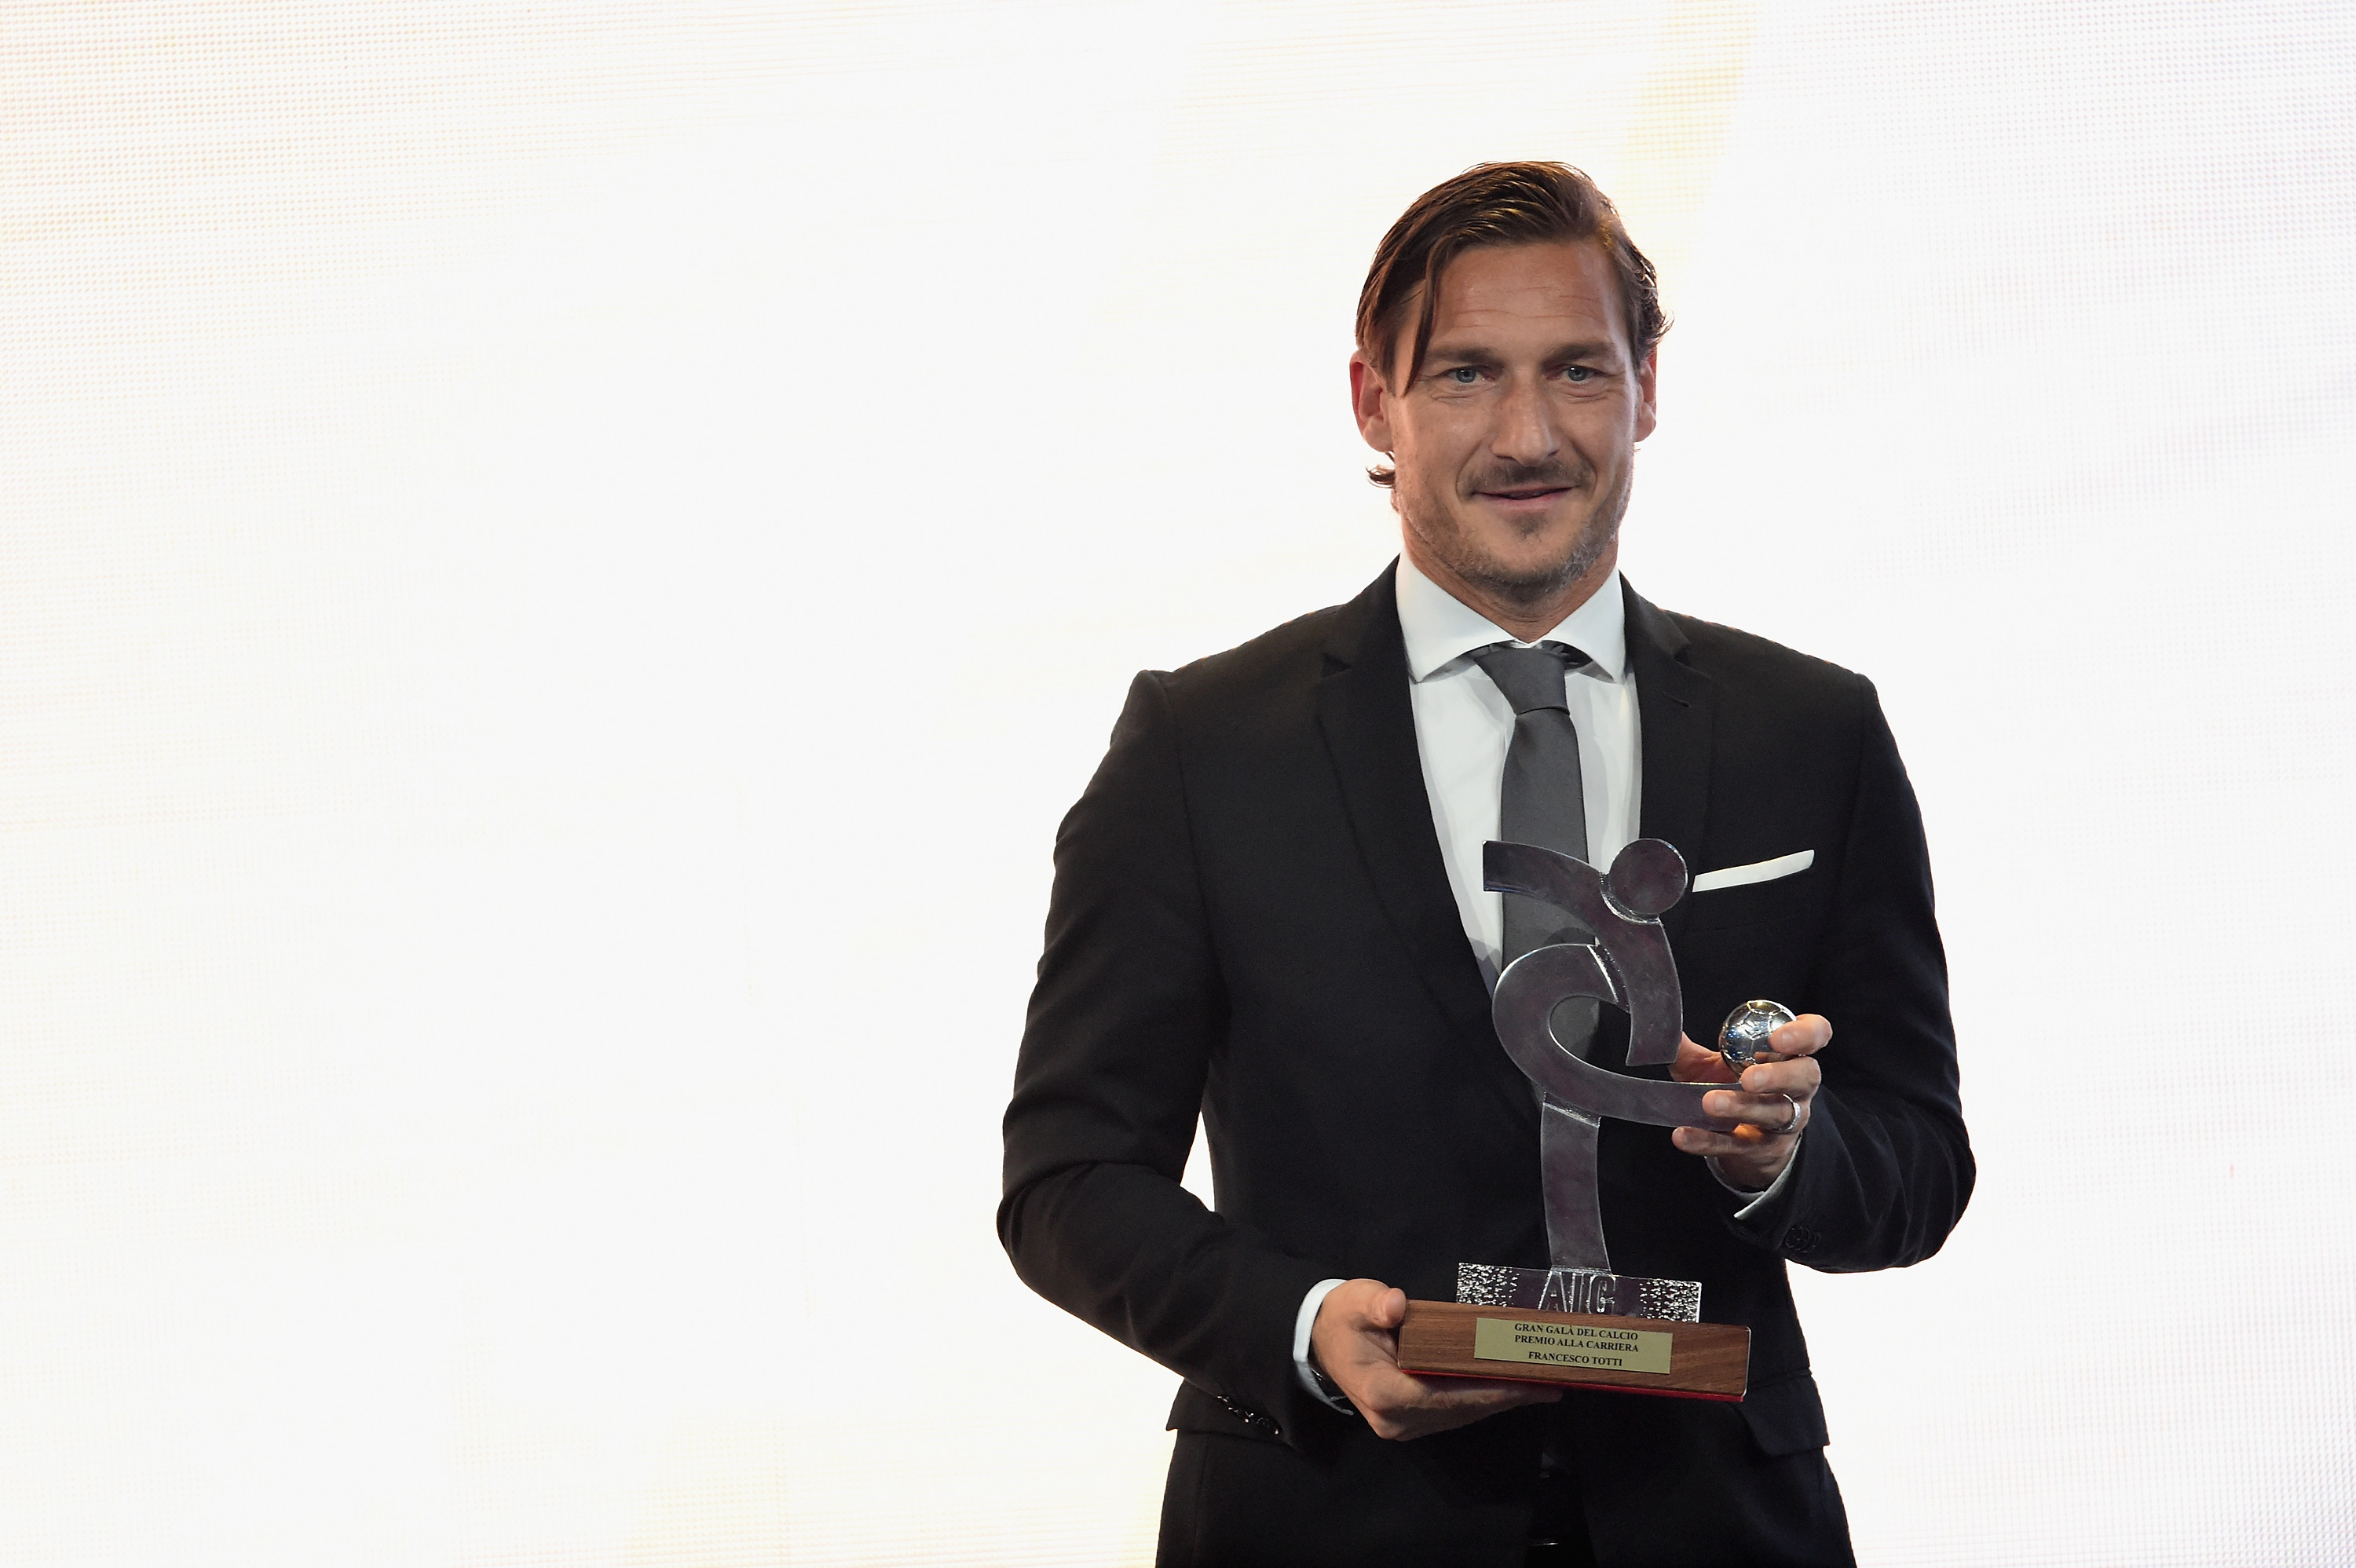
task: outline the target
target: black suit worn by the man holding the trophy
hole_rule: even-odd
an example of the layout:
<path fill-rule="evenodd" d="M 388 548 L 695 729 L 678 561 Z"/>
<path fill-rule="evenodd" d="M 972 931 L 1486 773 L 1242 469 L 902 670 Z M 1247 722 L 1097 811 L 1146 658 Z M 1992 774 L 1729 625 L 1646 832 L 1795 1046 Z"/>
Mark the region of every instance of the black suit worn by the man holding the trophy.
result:
<path fill-rule="evenodd" d="M 1758 1542 L 1741 1519 L 1727 1537 L 1753 1561 L 1816 1561 L 1807 1533 L 1833 1528 L 1746 1497 L 1791 1486 L 1758 1460 L 1821 1471 L 1783 1262 L 1918 1262 L 1972 1189 L 1920 815 L 1868 680 L 1633 589 L 1626 603 L 1642 831 L 1696 873 L 1816 852 L 1798 876 L 1666 916 L 1687 1034 L 1710 1038 L 1751 996 L 1833 1019 L 1786 1189 L 1736 1220 L 1743 1201 L 1666 1128 L 1604 1123 L 1600 1154 L 1614 1267 L 1701 1281 L 1708 1321 L 1748 1323 L 1751 1396 L 1574 1394 L 1553 1415 L 1378 1443 L 1296 1380 L 1293 1318 L 1322 1278 L 1451 1300 L 1458 1262 L 1546 1264 L 1536 1097 L 1489 1024 L 1449 892 L 1385 572 L 1348 605 L 1140 673 L 1055 841 L 999 1234 L 1034 1290 L 1185 1377 L 1173 1427 L 1227 1439 L 1197 1446 L 1216 1462 L 1187 1476 L 1194 1497 L 1173 1471 L 1166 1556 L 1173 1528 L 1211 1540 L 1244 1509 L 1282 1535 L 1296 1509 L 1333 1561 L 1442 1561 L 1402 1544 L 1418 1530 L 1461 1547 L 1449 1561 L 1515 1561 L 1548 1420 L 1586 1455 L 1607 1563 L 1656 1561 L 1647 1542 L 1677 1537 L 1661 1516 L 1675 1488 L 1644 1481 L 1670 1462 L 1694 1497 L 1767 1509 Z M 1597 1050 L 1621 1050 L 1609 1026 Z M 1178 1184 L 1197 1111 L 1216 1212 Z M 1362 1540 L 1345 1540 L 1352 1521 Z"/>

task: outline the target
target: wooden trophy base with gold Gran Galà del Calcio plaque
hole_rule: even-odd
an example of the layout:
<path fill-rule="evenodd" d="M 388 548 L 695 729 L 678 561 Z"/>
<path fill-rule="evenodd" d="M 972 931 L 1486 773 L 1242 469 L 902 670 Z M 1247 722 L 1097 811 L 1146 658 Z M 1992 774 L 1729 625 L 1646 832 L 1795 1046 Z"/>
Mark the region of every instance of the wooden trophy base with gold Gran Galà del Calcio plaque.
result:
<path fill-rule="evenodd" d="M 1597 1311 L 1409 1302 L 1399 1370 L 1739 1401 L 1751 1330 Z"/>

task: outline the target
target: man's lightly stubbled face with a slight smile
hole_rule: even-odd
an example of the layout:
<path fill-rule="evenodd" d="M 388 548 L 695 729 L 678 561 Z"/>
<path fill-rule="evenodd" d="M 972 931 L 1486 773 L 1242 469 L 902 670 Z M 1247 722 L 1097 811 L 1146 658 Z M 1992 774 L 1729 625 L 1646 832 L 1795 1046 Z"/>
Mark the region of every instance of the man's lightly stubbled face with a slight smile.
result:
<path fill-rule="evenodd" d="M 1440 275 L 1423 367 L 1392 386 L 1409 346 L 1383 367 L 1350 360 L 1359 431 L 1397 469 L 1409 558 L 1510 603 L 1614 560 L 1635 443 L 1654 426 L 1654 360 L 1628 348 L 1604 250 L 1468 250 Z"/>

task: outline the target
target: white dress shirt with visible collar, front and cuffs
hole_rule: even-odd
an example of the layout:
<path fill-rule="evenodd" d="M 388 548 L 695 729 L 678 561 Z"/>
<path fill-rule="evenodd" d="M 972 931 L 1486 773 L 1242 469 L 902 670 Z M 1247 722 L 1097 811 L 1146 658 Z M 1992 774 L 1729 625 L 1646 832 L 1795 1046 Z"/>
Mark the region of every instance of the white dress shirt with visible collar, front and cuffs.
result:
<path fill-rule="evenodd" d="M 1498 786 L 1505 749 L 1513 744 L 1513 704 L 1470 659 L 1491 643 L 1531 647 L 1480 610 L 1435 584 L 1399 556 L 1399 631 L 1407 633 L 1409 699 L 1416 711 L 1416 756 L 1423 758 L 1423 793 L 1432 803 L 1440 859 L 1449 869 L 1456 916 L 1480 958 L 1482 977 L 1496 989 L 1505 949 L 1505 895 L 1482 888 L 1482 845 L 1496 838 Z M 1588 657 L 1562 676 L 1564 706 L 1579 730 L 1579 775 L 1588 808 L 1588 864 L 1609 866 L 1637 833 L 1642 800 L 1642 732 L 1635 706 L 1635 671 L 1628 669 L 1628 603 L 1612 572 L 1583 605 L 1562 617 L 1541 643 L 1567 643 Z M 1710 1161 L 1710 1172 L 1718 1163 Z M 1783 1165 L 1783 1175 L 1791 1165 Z M 1783 1175 L 1741 1212 L 1751 1212 L 1783 1187 Z M 1753 1196 L 1720 1175 L 1720 1184 Z M 1293 1366 L 1303 1387 L 1326 1398 L 1310 1370 L 1310 1328 L 1324 1297 L 1343 1281 L 1310 1288 L 1293 1321 Z"/>

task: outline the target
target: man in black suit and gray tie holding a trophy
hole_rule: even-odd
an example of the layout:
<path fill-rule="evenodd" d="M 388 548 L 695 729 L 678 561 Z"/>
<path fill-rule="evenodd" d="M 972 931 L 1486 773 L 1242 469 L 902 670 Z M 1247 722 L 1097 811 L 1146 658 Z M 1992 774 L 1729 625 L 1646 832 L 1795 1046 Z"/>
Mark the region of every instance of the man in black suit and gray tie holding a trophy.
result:
<path fill-rule="evenodd" d="M 1402 560 L 1138 676 L 1058 833 L 999 1234 L 1185 1377 L 1164 1563 L 1849 1561 L 1783 1264 L 1911 1264 L 1960 1217 L 1946 965 L 1873 687 L 1619 577 L 1663 325 L 1574 170 L 1409 207 L 1350 360 Z M 1597 864 L 1654 836 L 1727 871 L 1666 916 L 1687 1019 L 1802 1012 L 1708 1095 L 1739 1135 L 1604 1123 L 1597 1156 L 1614 1264 L 1751 1326 L 1741 1406 L 1397 1370 L 1407 1297 L 1548 1260 L 1489 1024 L 1531 911 L 1480 862 L 1531 812 Z M 1626 1069 L 1616 1022 L 1588 1055 Z M 1727 1078 L 1692 1041 L 1673 1071 Z M 1197 1111 L 1216 1212 L 1178 1184 Z"/>

